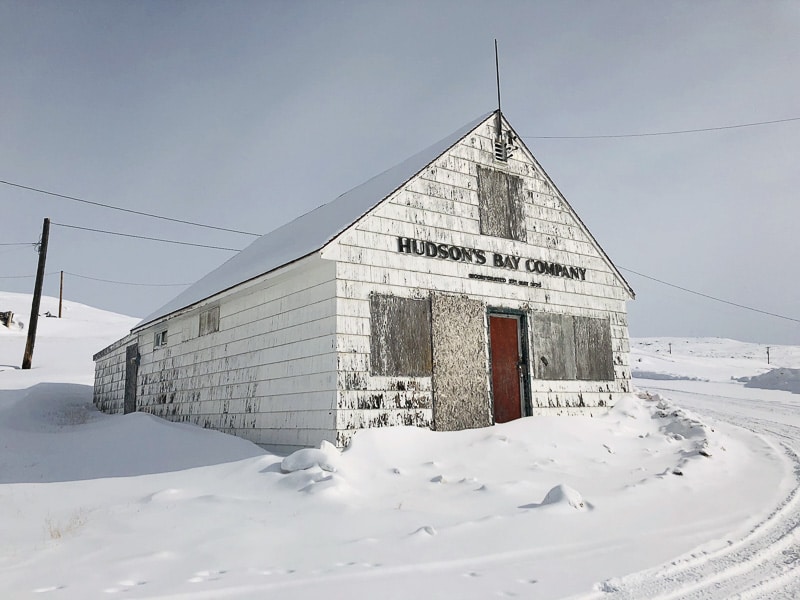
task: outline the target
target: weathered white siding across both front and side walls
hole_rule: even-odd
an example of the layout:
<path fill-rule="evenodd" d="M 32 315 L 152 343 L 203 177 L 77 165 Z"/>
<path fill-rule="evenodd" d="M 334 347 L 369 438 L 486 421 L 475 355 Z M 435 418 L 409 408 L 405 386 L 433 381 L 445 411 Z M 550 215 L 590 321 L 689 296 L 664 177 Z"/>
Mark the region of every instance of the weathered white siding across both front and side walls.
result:
<path fill-rule="evenodd" d="M 492 118 L 321 253 L 178 310 L 101 351 L 95 357 L 95 403 L 122 412 L 126 347 L 138 342 L 138 410 L 259 444 L 291 450 L 328 440 L 344 446 L 363 427 L 482 426 L 493 418 L 486 315 L 491 309 L 506 309 L 527 318 L 533 414 L 604 410 L 630 385 L 625 307 L 630 290 L 527 150 L 517 150 L 507 163 L 498 162 L 493 138 Z M 505 213 L 493 212 L 490 199 L 502 194 L 486 190 L 500 190 L 503 182 L 507 189 L 513 185 L 514 200 L 501 207 Z M 486 261 L 400 252 L 399 237 L 480 249 Z M 494 253 L 521 259 L 495 266 Z M 526 259 L 576 270 L 569 277 L 530 272 Z M 371 306 L 384 311 L 375 331 Z M 402 317 L 388 318 L 392 310 Z M 556 339 L 548 327 L 573 331 L 570 317 L 589 318 L 575 319 L 574 332 L 596 334 L 598 322 L 590 319 L 604 321 L 602 335 L 581 339 L 585 347 L 601 340 L 607 348 L 610 332 L 613 379 L 608 361 L 601 369 L 592 363 L 588 370 L 585 361 L 580 363 L 584 374 L 608 378 L 604 381 L 536 378 L 537 373 L 559 376 L 537 361 L 543 353 L 552 357 L 563 350 L 555 341 L 545 348 L 544 341 Z M 398 332 L 389 326 L 395 321 L 416 326 Z M 421 331 L 428 323 L 430 339 L 423 340 Z M 561 327 L 563 323 L 569 326 Z M 165 329 L 166 344 L 156 346 L 156 334 Z M 372 336 L 383 359 L 396 358 L 387 354 L 393 344 L 403 352 L 413 352 L 414 344 L 428 346 L 399 361 L 378 361 L 372 356 Z M 577 344 L 578 333 L 574 339 Z M 408 350 L 396 340 L 413 343 Z M 577 362 L 576 355 L 572 367 Z M 403 369 L 414 375 L 371 374 Z"/>

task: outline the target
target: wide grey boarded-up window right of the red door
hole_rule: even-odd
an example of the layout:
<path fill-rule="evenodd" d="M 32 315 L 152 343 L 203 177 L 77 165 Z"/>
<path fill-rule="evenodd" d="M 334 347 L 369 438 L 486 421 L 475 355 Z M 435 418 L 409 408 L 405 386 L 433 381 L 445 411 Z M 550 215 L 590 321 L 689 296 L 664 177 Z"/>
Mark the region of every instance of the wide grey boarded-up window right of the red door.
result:
<path fill-rule="evenodd" d="M 614 379 L 611 323 L 607 319 L 535 313 L 533 355 L 537 379 Z"/>

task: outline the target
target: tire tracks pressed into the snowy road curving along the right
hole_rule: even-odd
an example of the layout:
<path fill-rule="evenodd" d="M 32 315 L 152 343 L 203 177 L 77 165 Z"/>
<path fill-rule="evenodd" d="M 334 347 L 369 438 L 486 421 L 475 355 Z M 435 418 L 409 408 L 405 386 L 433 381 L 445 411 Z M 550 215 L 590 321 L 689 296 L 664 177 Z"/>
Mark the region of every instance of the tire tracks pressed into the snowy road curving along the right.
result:
<path fill-rule="evenodd" d="M 647 389 L 666 392 L 672 395 L 671 399 L 677 404 L 682 404 L 682 399 L 676 399 L 676 394 L 685 395 L 688 404 L 692 404 L 692 397 L 696 398 L 698 395 L 726 402 L 741 402 L 741 399 L 713 394 L 649 386 Z M 715 405 L 720 406 L 718 403 Z M 776 406 L 771 402 L 752 400 L 748 405 L 750 410 L 765 409 L 769 412 L 769 419 L 724 412 L 706 406 L 689 408 L 759 435 L 776 453 L 785 457 L 794 479 L 791 491 L 749 533 L 739 540 L 729 542 L 726 547 L 695 552 L 667 565 L 604 581 L 598 584 L 596 592 L 576 598 L 774 600 L 800 597 L 800 456 L 796 450 L 800 446 L 800 427 L 773 420 L 780 419 L 782 411 L 775 411 Z M 781 408 L 789 409 L 793 416 L 797 414 L 797 407 L 786 405 Z"/>

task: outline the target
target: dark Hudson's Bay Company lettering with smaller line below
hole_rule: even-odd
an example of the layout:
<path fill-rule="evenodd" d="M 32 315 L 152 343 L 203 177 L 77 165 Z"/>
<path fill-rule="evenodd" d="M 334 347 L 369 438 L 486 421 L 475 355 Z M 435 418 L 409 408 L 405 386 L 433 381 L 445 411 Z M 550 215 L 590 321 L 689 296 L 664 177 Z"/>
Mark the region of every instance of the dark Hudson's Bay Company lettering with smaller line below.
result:
<path fill-rule="evenodd" d="M 452 244 L 437 244 L 428 240 L 398 237 L 397 251 L 403 254 L 422 256 L 425 258 L 438 258 L 440 260 L 452 260 L 474 265 L 488 265 L 512 271 L 523 271 L 531 274 L 535 273 L 537 275 L 549 275 L 551 277 L 565 277 L 567 279 L 586 281 L 586 269 L 583 267 L 572 267 L 535 258 L 523 258 L 522 256 L 515 256 L 513 254 L 487 252 L 479 248 L 465 248 L 464 246 L 454 246 Z M 513 283 L 516 285 L 541 287 L 540 283 L 519 281 L 505 277 L 479 275 L 477 273 L 470 273 L 469 277 L 470 279 L 482 279 L 486 281 L 496 281 L 498 283 Z"/>

